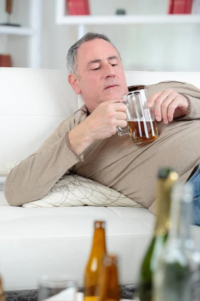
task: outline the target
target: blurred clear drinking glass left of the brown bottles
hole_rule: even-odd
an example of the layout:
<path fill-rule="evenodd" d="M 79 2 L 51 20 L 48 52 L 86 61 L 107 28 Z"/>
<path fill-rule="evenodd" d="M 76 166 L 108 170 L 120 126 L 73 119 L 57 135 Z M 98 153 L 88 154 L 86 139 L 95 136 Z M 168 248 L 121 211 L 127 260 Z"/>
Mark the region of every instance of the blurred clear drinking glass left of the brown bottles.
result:
<path fill-rule="evenodd" d="M 37 300 L 75 301 L 77 283 L 67 275 L 43 275 L 38 281 Z"/>

